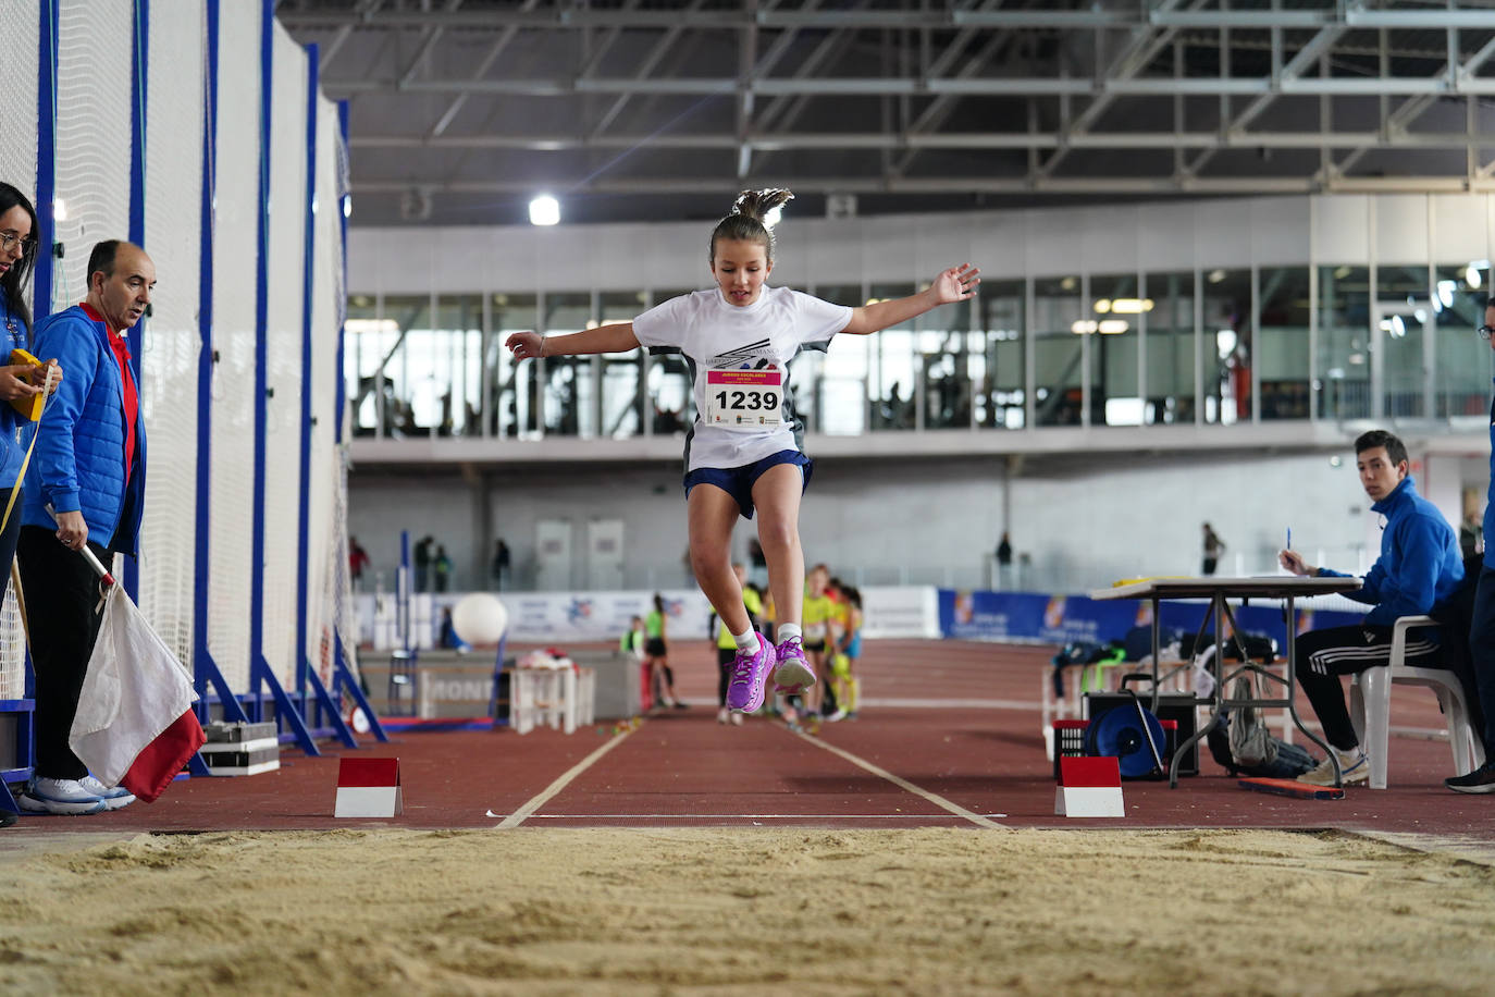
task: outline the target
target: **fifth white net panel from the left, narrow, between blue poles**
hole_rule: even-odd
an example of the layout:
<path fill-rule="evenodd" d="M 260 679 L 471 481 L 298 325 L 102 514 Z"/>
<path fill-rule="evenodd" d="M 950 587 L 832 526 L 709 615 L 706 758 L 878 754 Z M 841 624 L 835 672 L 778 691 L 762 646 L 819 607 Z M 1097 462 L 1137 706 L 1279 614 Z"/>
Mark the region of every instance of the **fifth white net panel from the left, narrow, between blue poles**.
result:
<path fill-rule="evenodd" d="M 275 28 L 271 93 L 269 363 L 265 423 L 265 661 L 296 688 L 302 317 L 306 238 L 306 52 Z M 308 575 L 311 577 L 311 575 Z M 309 587 L 309 586 L 308 586 Z"/>

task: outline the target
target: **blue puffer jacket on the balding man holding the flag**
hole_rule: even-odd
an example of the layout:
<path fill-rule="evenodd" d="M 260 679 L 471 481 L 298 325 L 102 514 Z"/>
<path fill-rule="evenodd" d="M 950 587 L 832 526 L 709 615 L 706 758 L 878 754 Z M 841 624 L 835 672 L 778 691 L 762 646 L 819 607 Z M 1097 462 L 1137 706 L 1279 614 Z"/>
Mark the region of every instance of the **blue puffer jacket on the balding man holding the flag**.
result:
<path fill-rule="evenodd" d="M 55 529 L 48 504 L 58 513 L 81 511 L 90 541 L 109 546 L 118 529 L 121 550 L 133 555 L 145 504 L 145 420 L 136 417 L 139 447 L 127 493 L 124 380 L 109 348 L 109 330 L 73 305 L 36 323 L 33 341 L 34 356 L 57 357 L 63 381 L 37 429 L 21 523 Z M 121 523 L 126 510 L 129 522 Z"/>

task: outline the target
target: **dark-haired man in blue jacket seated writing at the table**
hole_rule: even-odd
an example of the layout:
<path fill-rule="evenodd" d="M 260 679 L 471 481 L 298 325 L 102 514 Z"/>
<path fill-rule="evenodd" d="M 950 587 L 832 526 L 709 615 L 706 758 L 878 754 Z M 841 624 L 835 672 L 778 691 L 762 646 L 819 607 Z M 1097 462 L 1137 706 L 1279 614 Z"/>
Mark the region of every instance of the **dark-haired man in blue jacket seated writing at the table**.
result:
<path fill-rule="evenodd" d="M 1371 511 L 1386 517 L 1381 556 L 1356 592 L 1346 595 L 1372 608 L 1354 626 L 1329 626 L 1308 631 L 1298 638 L 1298 685 L 1313 704 L 1323 725 L 1325 740 L 1340 755 L 1341 779 L 1365 782 L 1371 765 L 1344 704 L 1340 676 L 1389 664 L 1392 625 L 1402 616 L 1425 616 L 1447 601 L 1464 580 L 1459 538 L 1428 499 L 1417 495 L 1408 474 L 1407 447 L 1389 432 L 1375 429 L 1354 441 L 1360 486 L 1374 502 Z M 1293 550 L 1281 553 L 1281 564 L 1293 574 L 1340 575 L 1329 568 L 1314 568 Z M 1407 665 L 1438 667 L 1437 631 L 1426 628 L 1407 635 Z M 1334 761 L 1326 758 L 1301 782 L 1320 786 L 1334 783 Z"/>

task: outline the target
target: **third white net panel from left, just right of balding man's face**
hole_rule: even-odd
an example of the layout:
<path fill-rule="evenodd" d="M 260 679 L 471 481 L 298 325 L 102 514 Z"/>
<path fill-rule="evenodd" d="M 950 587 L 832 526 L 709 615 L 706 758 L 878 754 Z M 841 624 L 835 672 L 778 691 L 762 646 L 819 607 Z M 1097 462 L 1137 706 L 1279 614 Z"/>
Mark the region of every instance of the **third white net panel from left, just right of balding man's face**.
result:
<path fill-rule="evenodd" d="M 145 135 L 145 250 L 157 291 L 141 356 L 150 447 L 141 525 L 141 610 L 187 662 L 193 656 L 197 496 L 197 324 L 206 21 L 202 4 L 152 4 Z"/>

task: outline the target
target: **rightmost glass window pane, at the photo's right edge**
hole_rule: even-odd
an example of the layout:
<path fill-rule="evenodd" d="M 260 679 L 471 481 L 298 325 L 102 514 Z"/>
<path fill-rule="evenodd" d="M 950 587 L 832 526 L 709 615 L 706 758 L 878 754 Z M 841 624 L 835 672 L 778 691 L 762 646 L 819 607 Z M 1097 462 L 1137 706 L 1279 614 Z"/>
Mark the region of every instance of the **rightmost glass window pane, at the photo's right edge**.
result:
<path fill-rule="evenodd" d="M 1488 260 L 1443 265 L 1434 271 L 1434 396 L 1440 419 L 1489 411 L 1491 348 L 1474 332 L 1485 324 L 1489 271 Z"/>

